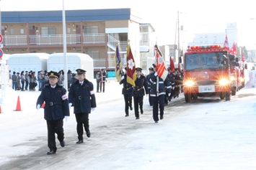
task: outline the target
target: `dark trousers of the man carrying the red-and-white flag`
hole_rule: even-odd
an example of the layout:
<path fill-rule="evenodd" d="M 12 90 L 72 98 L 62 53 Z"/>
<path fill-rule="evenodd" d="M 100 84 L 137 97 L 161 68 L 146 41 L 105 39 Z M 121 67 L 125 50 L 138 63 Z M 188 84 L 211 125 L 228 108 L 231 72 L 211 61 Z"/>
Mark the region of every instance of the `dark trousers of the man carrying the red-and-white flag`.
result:
<path fill-rule="evenodd" d="M 152 104 L 153 104 L 153 119 L 154 121 L 159 121 L 158 118 L 158 110 L 160 109 L 160 116 L 164 115 L 164 96 L 159 95 L 157 97 L 152 97 Z"/>

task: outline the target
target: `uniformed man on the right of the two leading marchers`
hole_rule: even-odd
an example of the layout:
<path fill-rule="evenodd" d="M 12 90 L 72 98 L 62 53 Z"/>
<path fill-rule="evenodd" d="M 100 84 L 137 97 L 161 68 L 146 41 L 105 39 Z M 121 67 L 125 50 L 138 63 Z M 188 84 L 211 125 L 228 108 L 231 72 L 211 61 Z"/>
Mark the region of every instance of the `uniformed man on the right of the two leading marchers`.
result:
<path fill-rule="evenodd" d="M 89 131 L 89 113 L 96 108 L 96 98 L 94 95 L 93 84 L 85 78 L 85 70 L 77 69 L 78 80 L 69 89 L 69 107 L 74 105 L 76 115 L 76 131 L 78 140 L 76 143 L 83 143 L 84 131 L 87 137 L 91 136 Z M 83 131 L 84 126 L 84 131 Z"/>

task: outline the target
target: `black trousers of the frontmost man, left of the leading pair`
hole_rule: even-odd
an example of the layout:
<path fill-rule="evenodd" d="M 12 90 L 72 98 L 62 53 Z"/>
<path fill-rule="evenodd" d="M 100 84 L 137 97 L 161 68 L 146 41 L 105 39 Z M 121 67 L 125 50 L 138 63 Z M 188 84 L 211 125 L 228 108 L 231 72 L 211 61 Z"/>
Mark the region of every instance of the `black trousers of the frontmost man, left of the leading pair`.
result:
<path fill-rule="evenodd" d="M 48 129 L 48 147 L 50 151 L 56 151 L 55 133 L 58 135 L 58 141 L 62 142 L 64 140 L 63 119 L 46 121 L 46 123 Z"/>

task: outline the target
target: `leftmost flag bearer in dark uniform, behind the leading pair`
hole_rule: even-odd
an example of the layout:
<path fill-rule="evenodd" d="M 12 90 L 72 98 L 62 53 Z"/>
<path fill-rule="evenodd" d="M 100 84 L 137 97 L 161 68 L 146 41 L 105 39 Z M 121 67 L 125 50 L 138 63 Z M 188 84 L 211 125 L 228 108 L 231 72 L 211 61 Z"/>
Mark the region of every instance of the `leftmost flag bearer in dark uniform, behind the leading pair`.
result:
<path fill-rule="evenodd" d="M 133 101 L 133 85 L 127 82 L 126 75 L 127 67 L 125 67 L 125 74 L 121 77 L 120 85 L 123 84 L 123 98 L 125 99 L 125 117 L 129 116 L 129 107 L 130 110 L 133 110 L 132 101 Z"/>

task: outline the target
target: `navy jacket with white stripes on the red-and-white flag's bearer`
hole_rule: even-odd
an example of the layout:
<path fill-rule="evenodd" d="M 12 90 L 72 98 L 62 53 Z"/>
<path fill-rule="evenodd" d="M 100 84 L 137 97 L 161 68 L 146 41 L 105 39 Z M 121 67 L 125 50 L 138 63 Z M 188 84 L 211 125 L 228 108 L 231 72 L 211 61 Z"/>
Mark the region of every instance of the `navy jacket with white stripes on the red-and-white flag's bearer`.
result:
<path fill-rule="evenodd" d="M 158 81 L 157 81 L 158 79 Z M 151 82 L 150 85 L 150 96 L 156 97 L 159 95 L 165 95 L 166 91 L 167 93 L 171 93 L 172 86 L 169 84 L 169 79 L 168 77 L 163 80 L 161 77 L 151 75 L 149 82 Z M 158 83 L 158 90 L 157 90 L 157 83 Z"/>

